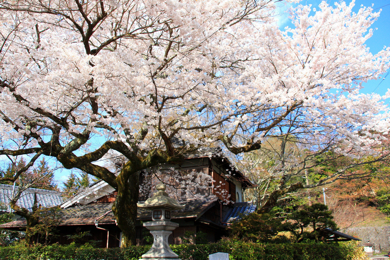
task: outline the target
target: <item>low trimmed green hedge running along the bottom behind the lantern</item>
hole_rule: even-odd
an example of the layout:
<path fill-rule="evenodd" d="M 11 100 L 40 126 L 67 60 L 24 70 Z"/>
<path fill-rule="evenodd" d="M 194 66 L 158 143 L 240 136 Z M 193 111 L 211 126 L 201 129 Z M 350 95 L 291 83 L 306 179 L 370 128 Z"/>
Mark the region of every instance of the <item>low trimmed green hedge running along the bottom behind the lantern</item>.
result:
<path fill-rule="evenodd" d="M 76 247 L 73 244 L 60 246 L 23 245 L 0 248 L 1 260 L 138 260 L 150 246 L 129 248 Z M 363 260 L 362 248 L 356 243 L 310 243 L 310 244 L 256 244 L 221 241 L 201 245 L 172 245 L 172 250 L 182 260 L 208 260 L 215 252 L 227 252 L 230 260 Z"/>

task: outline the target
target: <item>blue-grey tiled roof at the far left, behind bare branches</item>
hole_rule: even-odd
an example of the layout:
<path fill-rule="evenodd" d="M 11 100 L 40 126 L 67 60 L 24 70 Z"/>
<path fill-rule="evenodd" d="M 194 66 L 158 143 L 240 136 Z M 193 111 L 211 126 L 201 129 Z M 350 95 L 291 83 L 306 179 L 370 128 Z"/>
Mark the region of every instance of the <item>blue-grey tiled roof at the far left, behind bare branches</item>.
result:
<path fill-rule="evenodd" d="M 15 186 L 15 191 L 13 191 L 13 189 L 14 186 L 12 185 L 0 184 L 0 212 L 9 212 L 9 202 L 11 201 L 12 195 L 18 191 L 19 187 Z M 64 202 L 58 191 L 28 188 L 21 194 L 17 205 L 32 210 L 34 193 L 37 193 L 38 203 L 41 204 L 42 207 L 53 207 Z"/>

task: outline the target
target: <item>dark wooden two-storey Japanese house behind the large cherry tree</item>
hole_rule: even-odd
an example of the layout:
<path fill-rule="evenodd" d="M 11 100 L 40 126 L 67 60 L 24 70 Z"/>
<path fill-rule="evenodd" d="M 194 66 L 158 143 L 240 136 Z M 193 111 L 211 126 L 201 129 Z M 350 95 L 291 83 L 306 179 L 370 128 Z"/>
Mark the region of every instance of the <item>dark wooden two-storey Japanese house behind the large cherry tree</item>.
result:
<path fill-rule="evenodd" d="M 253 184 L 243 173 L 232 168 L 231 163 L 225 157 L 216 156 L 213 152 L 206 152 L 202 155 L 193 155 L 184 160 L 182 165 L 163 165 L 160 170 L 175 170 L 185 172 L 202 172 L 210 175 L 216 181 L 218 188 L 198 190 L 204 195 L 215 195 L 206 197 L 204 200 L 184 200 L 185 208 L 172 212 L 172 219 L 179 223 L 169 237 L 169 243 L 181 244 L 181 237 L 186 231 L 204 232 L 207 240 L 214 242 L 223 235 L 227 235 L 226 228 L 230 221 L 236 219 L 240 213 L 248 214 L 255 211 L 255 206 L 245 200 L 245 189 L 253 187 Z M 153 169 L 149 169 L 153 170 Z M 140 174 L 140 183 L 144 181 L 145 175 Z M 216 186 L 216 187 L 217 187 Z M 230 203 L 224 203 L 221 190 L 225 189 L 230 194 Z M 60 236 L 52 242 L 67 244 L 71 242 L 66 235 L 76 232 L 89 231 L 94 240 L 101 241 L 101 247 L 117 247 L 121 244 L 121 230 L 116 225 L 115 216 L 111 210 L 115 201 L 115 189 L 104 181 L 92 184 L 87 191 L 84 191 L 64 202 L 61 207 L 61 223 L 57 227 Z M 139 201 L 145 201 L 147 195 L 141 195 Z M 137 244 L 143 245 L 142 222 L 151 220 L 151 212 L 138 208 L 137 214 Z M 13 221 L 0 225 L 3 228 L 18 229 L 25 226 L 25 221 Z M 86 239 L 91 239 L 86 238 Z M 107 242 L 108 241 L 108 242 Z"/>

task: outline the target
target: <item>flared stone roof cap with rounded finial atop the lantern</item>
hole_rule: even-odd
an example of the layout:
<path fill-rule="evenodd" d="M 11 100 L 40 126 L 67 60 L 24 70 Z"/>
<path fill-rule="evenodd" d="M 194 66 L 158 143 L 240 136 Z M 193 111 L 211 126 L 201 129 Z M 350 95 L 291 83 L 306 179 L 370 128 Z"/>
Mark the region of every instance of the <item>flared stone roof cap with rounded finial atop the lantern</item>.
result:
<path fill-rule="evenodd" d="M 170 198 L 168 193 L 165 192 L 167 186 L 160 183 L 156 186 L 157 192 L 153 194 L 153 197 L 148 198 L 144 203 L 137 203 L 137 206 L 143 209 L 156 209 L 156 208 L 166 208 L 166 209 L 184 209 L 185 205 L 179 204 L 177 200 Z"/>

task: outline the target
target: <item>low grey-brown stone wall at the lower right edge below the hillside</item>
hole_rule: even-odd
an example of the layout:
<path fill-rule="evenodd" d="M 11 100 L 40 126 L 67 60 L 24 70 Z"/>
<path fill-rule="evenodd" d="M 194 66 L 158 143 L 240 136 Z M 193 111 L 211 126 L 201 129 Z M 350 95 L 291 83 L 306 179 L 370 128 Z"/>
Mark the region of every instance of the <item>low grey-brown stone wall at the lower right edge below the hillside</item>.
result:
<path fill-rule="evenodd" d="M 362 228 L 347 228 L 340 231 L 362 239 L 360 244 L 367 243 L 367 239 L 372 244 L 390 244 L 390 226 L 367 226 Z"/>

